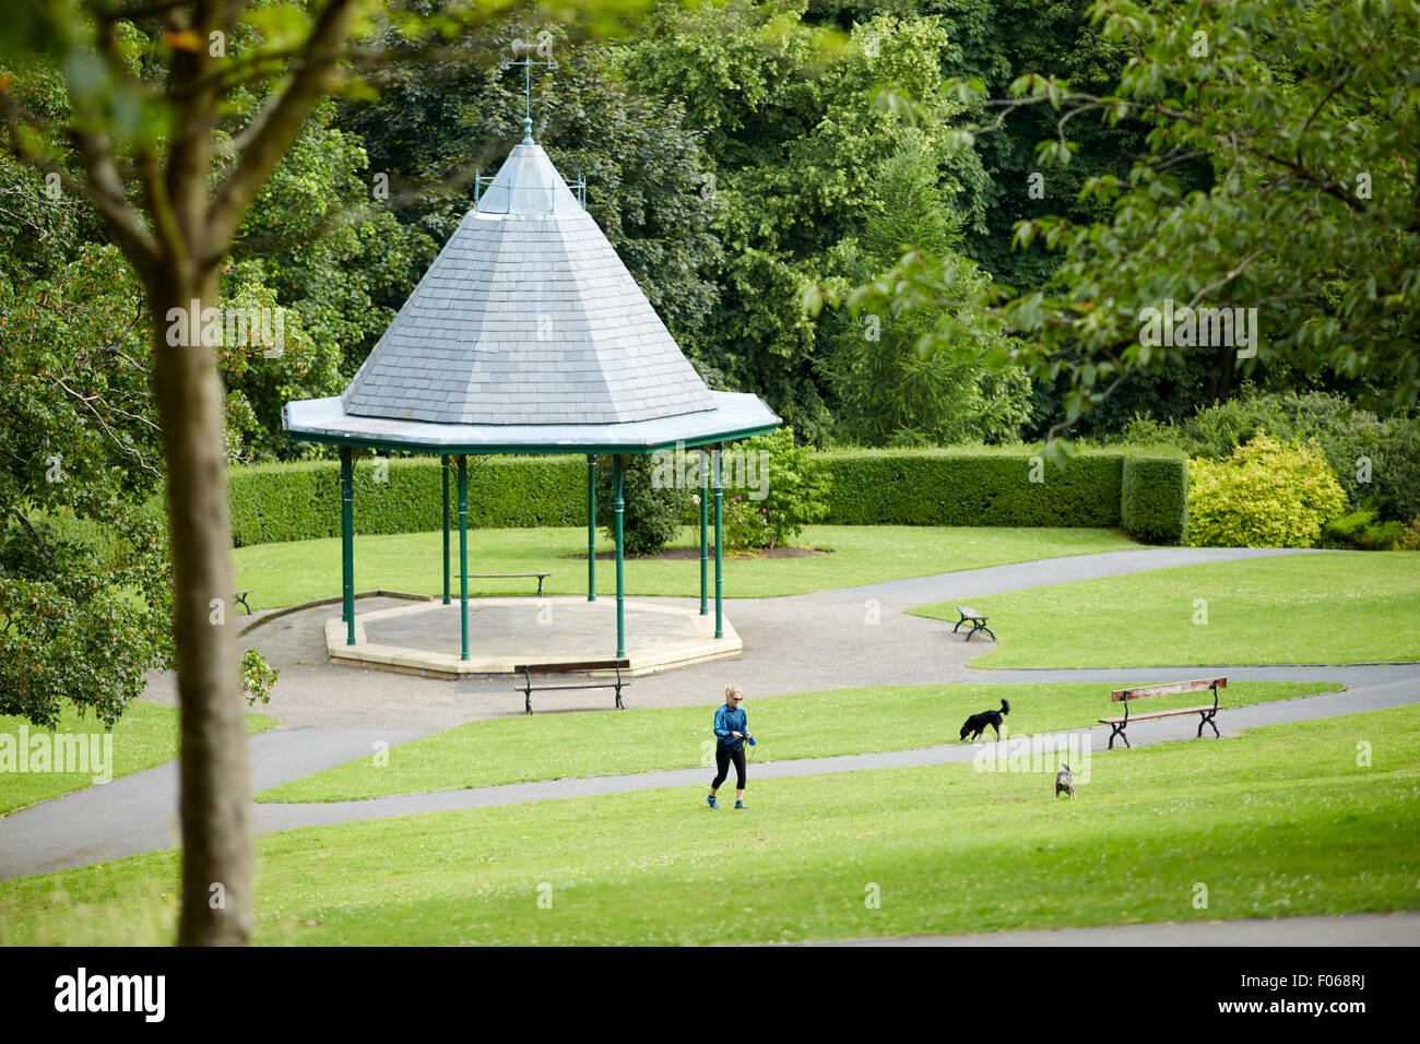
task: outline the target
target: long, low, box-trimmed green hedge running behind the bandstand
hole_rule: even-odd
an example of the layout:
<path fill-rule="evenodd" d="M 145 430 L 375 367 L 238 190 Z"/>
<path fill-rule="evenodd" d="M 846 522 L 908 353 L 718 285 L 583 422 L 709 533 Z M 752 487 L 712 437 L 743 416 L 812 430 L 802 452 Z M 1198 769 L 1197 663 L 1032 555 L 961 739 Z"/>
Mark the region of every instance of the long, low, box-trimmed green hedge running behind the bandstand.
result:
<path fill-rule="evenodd" d="M 832 450 L 815 459 L 831 479 L 829 526 L 1123 526 L 1139 540 L 1170 544 L 1187 533 L 1187 462 L 1177 450 L 1081 450 L 1064 470 L 1024 446 Z M 227 489 L 239 547 L 339 535 L 337 462 L 234 467 Z M 355 463 L 356 533 L 437 530 L 439 497 L 437 457 Z M 585 526 L 585 459 L 471 457 L 469 524 Z"/>

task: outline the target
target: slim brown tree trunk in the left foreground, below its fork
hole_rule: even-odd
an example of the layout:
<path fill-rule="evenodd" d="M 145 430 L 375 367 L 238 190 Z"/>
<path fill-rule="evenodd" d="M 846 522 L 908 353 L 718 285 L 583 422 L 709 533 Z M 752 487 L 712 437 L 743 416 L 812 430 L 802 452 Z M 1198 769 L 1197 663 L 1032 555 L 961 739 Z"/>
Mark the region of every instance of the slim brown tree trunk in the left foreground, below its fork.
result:
<path fill-rule="evenodd" d="M 182 946 L 240 946 L 251 936 L 251 777 L 231 612 L 224 395 L 200 322 L 170 345 L 170 308 L 217 301 L 213 274 L 153 274 L 153 386 L 168 456 L 173 636 L 182 720 Z M 202 305 L 197 305 L 199 310 Z M 200 314 L 200 312 L 199 312 Z M 217 622 L 214 622 L 217 621 Z"/>

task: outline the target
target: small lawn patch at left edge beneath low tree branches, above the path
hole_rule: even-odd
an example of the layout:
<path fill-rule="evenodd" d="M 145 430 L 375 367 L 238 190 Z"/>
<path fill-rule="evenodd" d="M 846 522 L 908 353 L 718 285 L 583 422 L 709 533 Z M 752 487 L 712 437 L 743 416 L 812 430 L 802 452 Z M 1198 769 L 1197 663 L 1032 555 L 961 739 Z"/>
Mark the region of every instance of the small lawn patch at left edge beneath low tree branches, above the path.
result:
<path fill-rule="evenodd" d="M 275 727 L 275 719 L 270 714 L 247 713 L 247 732 L 260 733 Z M 51 733 L 24 724 L 23 719 L 0 716 L 0 736 L 13 737 L 10 741 L 18 747 L 21 737 L 27 736 L 33 743 L 36 737 L 50 737 Z M 91 737 L 102 736 L 104 723 L 88 714 L 80 717 L 72 707 L 60 716 L 58 733 L 80 734 Z M 155 764 L 172 761 L 178 757 L 178 707 L 160 703 L 145 703 L 133 700 L 124 710 L 124 716 L 114 724 L 114 763 L 111 766 L 112 778 L 128 776 L 142 768 L 152 768 Z M 94 740 L 88 740 L 89 744 Z M 45 740 L 44 746 L 53 749 L 53 741 Z M 92 764 L 91 764 L 92 767 Z M 71 790 L 82 790 L 91 785 L 94 773 L 57 773 L 57 771 L 0 771 L 0 815 L 13 812 L 16 808 L 44 801 Z M 102 785 L 102 784 L 99 784 Z"/>

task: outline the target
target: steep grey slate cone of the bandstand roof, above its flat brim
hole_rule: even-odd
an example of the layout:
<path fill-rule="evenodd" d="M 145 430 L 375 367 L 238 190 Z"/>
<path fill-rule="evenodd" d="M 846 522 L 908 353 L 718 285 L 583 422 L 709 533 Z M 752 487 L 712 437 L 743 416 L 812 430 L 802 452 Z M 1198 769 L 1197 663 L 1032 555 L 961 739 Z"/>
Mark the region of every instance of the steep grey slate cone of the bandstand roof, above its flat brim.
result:
<path fill-rule="evenodd" d="M 405 301 L 341 412 L 613 425 L 714 410 L 717 399 L 528 136 Z"/>

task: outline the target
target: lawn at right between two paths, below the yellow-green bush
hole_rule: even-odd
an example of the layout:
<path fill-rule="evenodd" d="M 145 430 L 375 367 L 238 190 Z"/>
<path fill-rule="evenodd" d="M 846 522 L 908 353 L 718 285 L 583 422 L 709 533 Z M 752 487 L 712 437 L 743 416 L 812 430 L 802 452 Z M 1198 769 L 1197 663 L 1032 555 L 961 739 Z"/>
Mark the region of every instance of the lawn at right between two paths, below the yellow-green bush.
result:
<path fill-rule="evenodd" d="M 1179 565 L 984 595 L 1000 646 L 976 668 L 1355 663 L 1420 659 L 1420 554 Z M 1194 622 L 1196 615 L 1207 622 Z M 953 602 L 919 616 L 956 621 Z"/>

